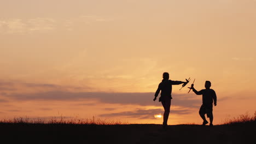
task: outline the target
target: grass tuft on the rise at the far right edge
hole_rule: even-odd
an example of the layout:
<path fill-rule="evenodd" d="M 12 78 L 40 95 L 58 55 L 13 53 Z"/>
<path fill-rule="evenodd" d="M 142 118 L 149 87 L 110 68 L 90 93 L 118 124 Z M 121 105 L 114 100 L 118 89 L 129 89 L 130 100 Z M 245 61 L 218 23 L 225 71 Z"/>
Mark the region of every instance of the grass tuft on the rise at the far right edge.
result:
<path fill-rule="evenodd" d="M 254 112 L 254 116 L 249 115 L 246 112 L 243 115 L 234 118 L 227 118 L 225 119 L 223 124 L 237 124 L 237 123 L 255 123 L 256 122 L 256 111 Z"/>

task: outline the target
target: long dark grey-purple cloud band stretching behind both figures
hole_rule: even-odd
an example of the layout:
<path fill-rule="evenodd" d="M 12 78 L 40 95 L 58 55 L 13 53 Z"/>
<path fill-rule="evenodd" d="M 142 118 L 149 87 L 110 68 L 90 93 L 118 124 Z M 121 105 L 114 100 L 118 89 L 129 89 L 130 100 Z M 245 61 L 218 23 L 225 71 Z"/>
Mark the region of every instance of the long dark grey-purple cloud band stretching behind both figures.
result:
<path fill-rule="evenodd" d="M 200 99 L 191 99 L 189 95 L 173 94 L 172 105 L 182 107 L 197 107 L 201 104 Z M 106 93 L 106 92 L 67 92 L 49 91 L 38 93 L 9 93 L 5 97 L 14 100 L 97 100 L 100 103 L 155 106 L 158 101 L 153 101 L 154 93 Z M 86 104 L 87 105 L 87 104 Z"/>

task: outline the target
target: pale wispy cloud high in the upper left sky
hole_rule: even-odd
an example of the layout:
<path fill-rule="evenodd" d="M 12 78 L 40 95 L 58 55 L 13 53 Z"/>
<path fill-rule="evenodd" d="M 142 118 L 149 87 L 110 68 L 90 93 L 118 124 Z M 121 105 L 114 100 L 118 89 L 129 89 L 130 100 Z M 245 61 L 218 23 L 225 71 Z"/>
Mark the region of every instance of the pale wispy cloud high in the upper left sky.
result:
<path fill-rule="evenodd" d="M 97 15 L 81 15 L 66 19 L 51 17 L 35 17 L 33 19 L 4 19 L 0 20 L 0 32 L 8 34 L 22 34 L 33 32 L 50 32 L 57 28 L 72 31 L 80 23 L 104 22 L 107 19 Z"/>

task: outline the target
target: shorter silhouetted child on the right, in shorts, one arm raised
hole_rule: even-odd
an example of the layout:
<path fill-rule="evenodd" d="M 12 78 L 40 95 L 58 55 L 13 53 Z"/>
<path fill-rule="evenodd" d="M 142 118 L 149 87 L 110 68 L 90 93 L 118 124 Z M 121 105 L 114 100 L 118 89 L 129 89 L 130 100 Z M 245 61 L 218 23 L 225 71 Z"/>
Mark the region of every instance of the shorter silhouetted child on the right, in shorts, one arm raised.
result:
<path fill-rule="evenodd" d="M 191 89 L 193 89 L 193 92 L 197 95 L 202 94 L 202 106 L 200 107 L 199 110 L 199 115 L 203 119 L 202 125 L 206 125 L 208 121 L 206 121 L 205 114 L 207 115 L 208 118 L 210 118 L 210 126 L 213 126 L 212 121 L 213 121 L 213 114 L 212 114 L 212 103 L 214 101 L 214 106 L 217 105 L 217 96 L 216 93 L 213 89 L 210 89 L 211 87 L 211 82 L 206 81 L 205 82 L 205 88 L 202 89 L 201 91 L 197 92 L 196 89 L 194 88 L 194 84 L 191 85 Z"/>

